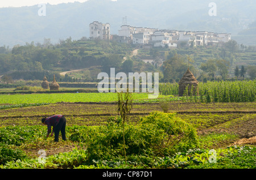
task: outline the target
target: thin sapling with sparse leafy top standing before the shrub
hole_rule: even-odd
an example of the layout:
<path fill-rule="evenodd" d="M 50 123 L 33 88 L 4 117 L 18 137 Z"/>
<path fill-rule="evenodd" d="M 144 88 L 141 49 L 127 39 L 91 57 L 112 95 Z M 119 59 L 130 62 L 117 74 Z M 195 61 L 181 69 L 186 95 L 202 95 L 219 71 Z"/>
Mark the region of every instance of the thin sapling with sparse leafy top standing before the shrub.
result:
<path fill-rule="evenodd" d="M 118 110 L 117 113 L 121 115 L 122 118 L 122 126 L 123 126 L 123 153 L 125 155 L 125 164 L 126 162 L 126 151 L 125 151 L 125 121 L 126 121 L 126 115 L 130 114 L 131 109 L 133 108 L 133 97 L 131 93 L 128 91 L 118 92 Z"/>

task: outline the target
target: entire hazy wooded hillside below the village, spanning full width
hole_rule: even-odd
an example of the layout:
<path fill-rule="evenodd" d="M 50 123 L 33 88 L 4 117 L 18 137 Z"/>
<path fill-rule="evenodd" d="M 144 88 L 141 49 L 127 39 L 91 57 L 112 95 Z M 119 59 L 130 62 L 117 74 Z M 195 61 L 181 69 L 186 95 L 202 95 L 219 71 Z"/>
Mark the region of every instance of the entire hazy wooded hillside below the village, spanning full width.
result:
<path fill-rule="evenodd" d="M 188 67 L 198 80 L 215 78 L 232 78 L 235 68 L 247 69 L 245 77 L 256 77 L 256 46 L 239 45 L 229 41 L 219 46 L 198 46 L 139 49 L 137 55 L 133 50 L 137 46 L 104 40 L 72 40 L 67 38 L 59 44 L 52 45 L 45 40 L 43 44 L 31 42 L 24 46 L 9 49 L 0 47 L 0 78 L 4 82 L 14 80 L 42 80 L 46 75 L 70 82 L 73 79 L 82 82 L 96 82 L 100 72 L 159 72 L 161 82 L 179 81 Z M 124 61 L 124 57 L 126 61 Z M 142 59 L 155 59 L 156 65 L 144 63 Z M 60 76 L 61 72 L 69 72 Z M 236 75 L 237 76 L 237 75 Z M 244 76 L 244 74 L 243 74 Z M 63 79 L 65 78 L 65 79 Z"/>

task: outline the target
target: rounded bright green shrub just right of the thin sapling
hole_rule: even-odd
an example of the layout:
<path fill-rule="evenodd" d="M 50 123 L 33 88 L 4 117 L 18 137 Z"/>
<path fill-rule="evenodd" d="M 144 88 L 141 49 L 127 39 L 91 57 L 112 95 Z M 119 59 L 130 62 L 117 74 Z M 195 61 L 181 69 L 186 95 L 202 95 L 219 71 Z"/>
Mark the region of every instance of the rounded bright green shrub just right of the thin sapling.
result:
<path fill-rule="evenodd" d="M 198 145 L 196 129 L 177 118 L 175 113 L 154 112 L 139 124 L 141 136 L 155 153 L 170 155 Z"/>

